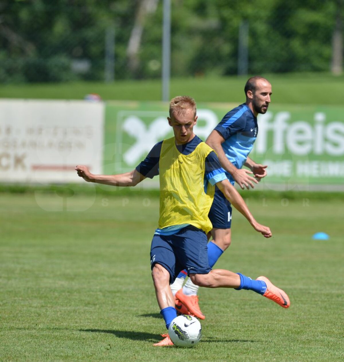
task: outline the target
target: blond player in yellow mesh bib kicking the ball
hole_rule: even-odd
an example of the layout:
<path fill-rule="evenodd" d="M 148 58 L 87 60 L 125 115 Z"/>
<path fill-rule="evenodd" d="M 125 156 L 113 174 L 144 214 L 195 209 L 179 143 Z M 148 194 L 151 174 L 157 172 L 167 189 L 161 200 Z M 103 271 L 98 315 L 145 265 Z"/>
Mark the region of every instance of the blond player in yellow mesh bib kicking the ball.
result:
<path fill-rule="evenodd" d="M 288 295 L 266 277 L 252 280 L 229 270 L 211 270 L 207 256 L 207 232 L 212 228 L 208 213 L 215 185 L 257 232 L 264 237 L 272 234 L 267 226 L 255 220 L 238 191 L 228 181 L 216 153 L 193 133 L 197 122 L 196 102 L 187 96 L 173 98 L 167 119 L 175 136 L 157 143 L 133 171 L 95 175 L 84 165 L 75 168 L 85 181 L 113 186 L 135 186 L 144 178 L 159 174 L 160 218 L 150 255 L 156 299 L 167 329 L 177 316 L 170 284 L 183 269 L 198 286 L 253 290 L 288 308 Z M 168 334 L 162 336 L 164 339 L 154 346 L 173 345 Z"/>

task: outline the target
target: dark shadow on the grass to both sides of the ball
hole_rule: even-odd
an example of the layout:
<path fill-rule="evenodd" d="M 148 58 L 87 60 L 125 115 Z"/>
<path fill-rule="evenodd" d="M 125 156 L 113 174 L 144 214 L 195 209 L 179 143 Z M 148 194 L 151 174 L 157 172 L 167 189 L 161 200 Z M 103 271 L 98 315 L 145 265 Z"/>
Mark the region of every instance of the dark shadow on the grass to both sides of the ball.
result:
<path fill-rule="evenodd" d="M 133 331 L 116 331 L 114 329 L 79 329 L 80 332 L 92 333 L 109 333 L 114 334 L 118 338 L 126 338 L 133 341 L 152 341 L 158 342 L 161 340 L 160 334 L 133 332 Z M 223 338 L 202 338 L 202 343 L 255 343 L 259 341 L 254 340 L 236 340 L 236 339 L 223 339 Z"/>

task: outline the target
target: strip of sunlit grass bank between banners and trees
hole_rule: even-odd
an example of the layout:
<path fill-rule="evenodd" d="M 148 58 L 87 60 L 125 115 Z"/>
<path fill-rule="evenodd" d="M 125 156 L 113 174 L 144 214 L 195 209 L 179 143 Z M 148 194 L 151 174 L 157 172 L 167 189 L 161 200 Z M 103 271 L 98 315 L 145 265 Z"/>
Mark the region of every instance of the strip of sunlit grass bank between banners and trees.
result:
<path fill-rule="evenodd" d="M 274 104 L 342 105 L 344 76 L 329 73 L 264 75 L 272 84 Z M 197 102 L 244 101 L 248 76 L 198 77 L 171 79 L 170 96 L 190 95 Z M 110 84 L 79 82 L 57 84 L 7 84 L 0 88 L 0 98 L 83 99 L 98 93 L 103 100 L 160 101 L 161 81 L 119 80 Z"/>

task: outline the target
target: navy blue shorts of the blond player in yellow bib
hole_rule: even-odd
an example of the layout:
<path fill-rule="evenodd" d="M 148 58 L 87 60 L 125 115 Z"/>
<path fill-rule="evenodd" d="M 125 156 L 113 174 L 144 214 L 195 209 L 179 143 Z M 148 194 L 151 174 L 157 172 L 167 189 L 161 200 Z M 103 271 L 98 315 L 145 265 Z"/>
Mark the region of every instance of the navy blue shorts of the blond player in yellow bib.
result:
<path fill-rule="evenodd" d="M 181 270 L 189 274 L 208 274 L 207 236 L 203 230 L 192 225 L 173 235 L 154 235 L 151 244 L 151 268 L 155 264 L 168 270 L 173 283 Z"/>

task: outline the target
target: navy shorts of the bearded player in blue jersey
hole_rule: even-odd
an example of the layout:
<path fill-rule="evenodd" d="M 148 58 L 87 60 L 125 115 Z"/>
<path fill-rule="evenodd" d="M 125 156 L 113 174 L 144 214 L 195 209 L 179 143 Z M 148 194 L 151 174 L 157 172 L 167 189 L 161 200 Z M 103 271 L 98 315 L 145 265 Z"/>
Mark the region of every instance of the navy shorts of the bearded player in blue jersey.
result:
<path fill-rule="evenodd" d="M 215 188 L 214 201 L 210 207 L 208 217 L 213 227 L 230 229 L 232 223 L 232 206 L 225 195 Z"/>

